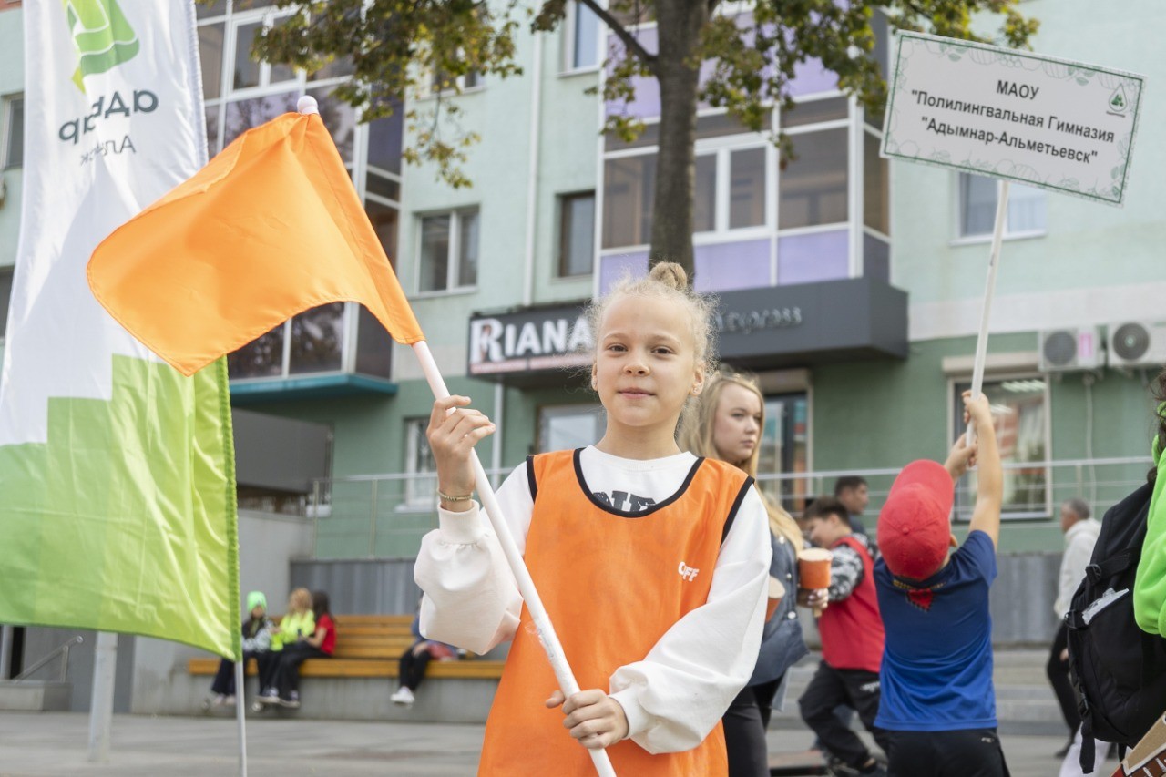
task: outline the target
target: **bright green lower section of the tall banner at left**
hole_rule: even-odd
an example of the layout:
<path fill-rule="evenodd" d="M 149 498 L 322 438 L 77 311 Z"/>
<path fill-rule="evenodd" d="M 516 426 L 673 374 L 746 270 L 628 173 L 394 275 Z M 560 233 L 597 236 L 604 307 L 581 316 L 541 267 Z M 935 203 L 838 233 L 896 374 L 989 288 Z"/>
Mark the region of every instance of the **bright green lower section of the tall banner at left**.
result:
<path fill-rule="evenodd" d="M 0 446 L 0 621 L 241 656 L 225 359 L 113 356 L 111 380 L 50 399 L 48 442 Z"/>

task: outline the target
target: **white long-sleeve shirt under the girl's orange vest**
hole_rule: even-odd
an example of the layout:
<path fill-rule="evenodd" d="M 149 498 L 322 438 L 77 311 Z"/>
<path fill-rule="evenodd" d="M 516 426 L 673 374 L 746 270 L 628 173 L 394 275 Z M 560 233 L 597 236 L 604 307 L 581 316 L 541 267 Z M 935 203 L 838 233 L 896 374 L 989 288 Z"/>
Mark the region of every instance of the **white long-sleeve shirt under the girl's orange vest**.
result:
<path fill-rule="evenodd" d="M 688 453 L 620 459 L 591 447 L 580 456 L 588 488 L 621 510 L 670 497 L 695 461 Z M 497 496 L 521 552 L 534 508 L 525 466 Z M 761 640 L 771 552 L 765 508 L 750 489 L 721 546 L 708 601 L 677 621 L 642 660 L 612 673 L 609 693 L 624 708 L 628 736 L 645 750 L 696 747 L 745 686 Z M 438 528 L 422 540 L 414 574 L 426 593 L 421 631 L 428 638 L 483 653 L 513 637 L 522 600 L 477 503 L 465 512 L 438 511 Z"/>

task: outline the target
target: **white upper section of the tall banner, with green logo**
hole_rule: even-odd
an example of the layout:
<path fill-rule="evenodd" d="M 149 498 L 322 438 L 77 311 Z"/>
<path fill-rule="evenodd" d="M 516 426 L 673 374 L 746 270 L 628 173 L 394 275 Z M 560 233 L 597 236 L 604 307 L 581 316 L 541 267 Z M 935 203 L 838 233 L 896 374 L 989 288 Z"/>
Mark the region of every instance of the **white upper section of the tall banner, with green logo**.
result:
<path fill-rule="evenodd" d="M 97 303 L 97 244 L 206 161 L 190 0 L 26 0 L 20 246 L 0 444 L 47 442 L 50 397 L 108 399 L 112 354 L 155 357 Z"/>

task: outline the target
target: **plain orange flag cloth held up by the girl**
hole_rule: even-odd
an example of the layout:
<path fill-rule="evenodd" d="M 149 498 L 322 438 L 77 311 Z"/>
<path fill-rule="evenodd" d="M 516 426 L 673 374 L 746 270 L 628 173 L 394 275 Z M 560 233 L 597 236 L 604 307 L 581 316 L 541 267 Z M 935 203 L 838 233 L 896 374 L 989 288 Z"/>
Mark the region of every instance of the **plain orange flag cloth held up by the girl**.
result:
<path fill-rule="evenodd" d="M 424 340 L 318 114 L 245 132 L 101 242 L 87 273 L 110 315 L 187 376 L 329 302 Z"/>

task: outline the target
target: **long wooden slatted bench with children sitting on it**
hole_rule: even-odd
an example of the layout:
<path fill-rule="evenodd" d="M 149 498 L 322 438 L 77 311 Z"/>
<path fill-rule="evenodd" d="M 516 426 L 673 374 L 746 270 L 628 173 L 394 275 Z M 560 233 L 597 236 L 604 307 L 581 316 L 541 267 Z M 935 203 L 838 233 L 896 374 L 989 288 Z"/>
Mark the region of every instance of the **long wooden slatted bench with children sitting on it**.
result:
<path fill-rule="evenodd" d="M 395 678 L 401 653 L 414 640 L 412 623 L 412 615 L 337 615 L 332 658 L 309 658 L 300 667 L 300 677 Z M 478 658 L 430 662 L 426 678 L 497 680 L 503 664 Z M 194 676 L 212 676 L 218 665 L 218 658 L 191 658 L 187 670 Z M 257 673 L 254 660 L 247 662 L 246 671 L 250 676 Z"/>

